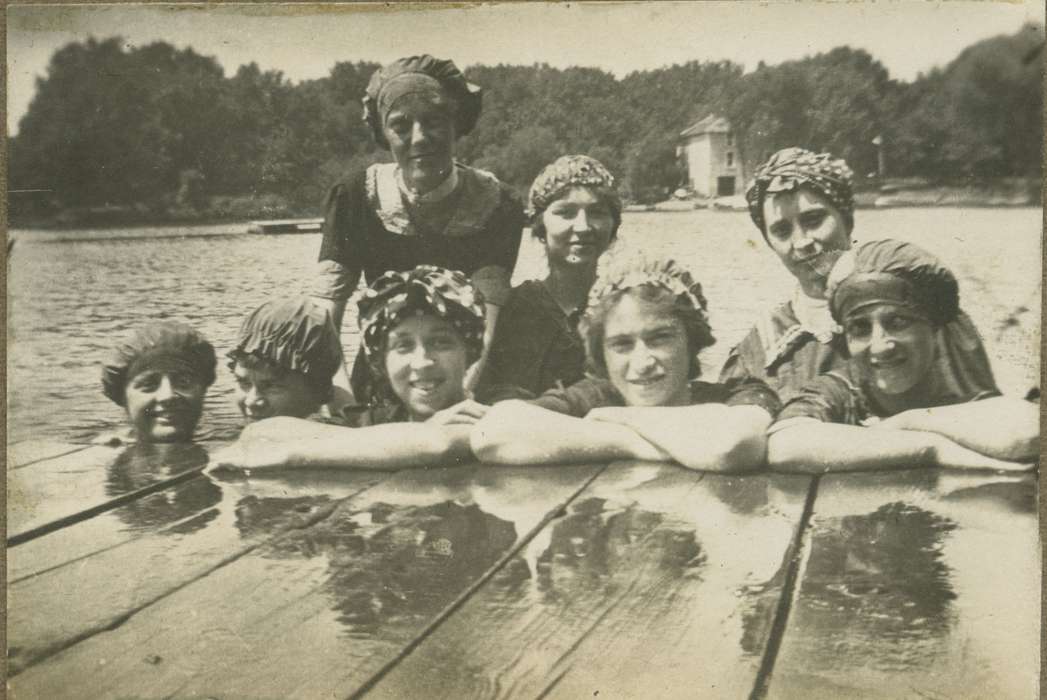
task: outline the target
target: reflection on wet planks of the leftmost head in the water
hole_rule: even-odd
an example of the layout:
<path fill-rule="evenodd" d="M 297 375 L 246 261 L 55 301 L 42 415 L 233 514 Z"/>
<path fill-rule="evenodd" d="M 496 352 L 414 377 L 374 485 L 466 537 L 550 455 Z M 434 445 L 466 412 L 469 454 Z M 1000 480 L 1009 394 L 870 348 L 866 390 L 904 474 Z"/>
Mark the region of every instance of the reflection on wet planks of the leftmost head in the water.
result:
<path fill-rule="evenodd" d="M 128 447 L 107 468 L 106 494 L 112 497 L 143 489 L 176 474 L 207 464 L 207 452 L 191 444 L 148 444 Z M 154 528 L 186 520 L 173 530 L 179 534 L 200 529 L 218 516 L 216 505 L 222 490 L 205 476 L 191 478 L 176 488 L 164 489 L 115 509 L 113 513 L 135 528 Z"/>

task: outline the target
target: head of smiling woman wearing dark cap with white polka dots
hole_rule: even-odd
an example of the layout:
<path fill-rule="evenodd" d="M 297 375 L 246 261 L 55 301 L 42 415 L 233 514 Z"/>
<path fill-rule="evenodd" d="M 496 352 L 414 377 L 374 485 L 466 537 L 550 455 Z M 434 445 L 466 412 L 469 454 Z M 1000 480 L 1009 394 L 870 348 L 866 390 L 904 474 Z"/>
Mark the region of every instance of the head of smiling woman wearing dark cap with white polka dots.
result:
<path fill-rule="evenodd" d="M 483 296 L 464 274 L 431 265 L 386 272 L 358 302 L 361 344 L 378 394 L 424 420 L 464 398 L 484 347 Z"/>

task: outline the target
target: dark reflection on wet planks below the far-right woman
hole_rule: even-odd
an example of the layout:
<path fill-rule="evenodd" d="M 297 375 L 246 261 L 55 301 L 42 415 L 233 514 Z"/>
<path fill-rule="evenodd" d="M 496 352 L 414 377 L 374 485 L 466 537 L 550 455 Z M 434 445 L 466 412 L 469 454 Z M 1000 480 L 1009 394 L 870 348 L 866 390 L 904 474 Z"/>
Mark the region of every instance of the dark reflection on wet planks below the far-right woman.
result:
<path fill-rule="evenodd" d="M 955 528 L 903 502 L 819 522 L 801 596 L 809 661 L 900 670 L 945 654 L 956 594 L 941 550 Z"/>

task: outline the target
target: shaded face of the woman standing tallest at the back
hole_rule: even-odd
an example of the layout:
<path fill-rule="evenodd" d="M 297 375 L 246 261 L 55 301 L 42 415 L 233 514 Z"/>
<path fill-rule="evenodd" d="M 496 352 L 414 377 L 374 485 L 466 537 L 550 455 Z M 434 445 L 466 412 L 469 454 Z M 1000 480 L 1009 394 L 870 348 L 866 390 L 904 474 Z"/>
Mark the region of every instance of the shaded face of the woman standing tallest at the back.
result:
<path fill-rule="evenodd" d="M 454 164 L 454 109 L 438 93 L 401 97 L 386 114 L 382 134 L 411 189 L 426 193 L 442 183 Z"/>

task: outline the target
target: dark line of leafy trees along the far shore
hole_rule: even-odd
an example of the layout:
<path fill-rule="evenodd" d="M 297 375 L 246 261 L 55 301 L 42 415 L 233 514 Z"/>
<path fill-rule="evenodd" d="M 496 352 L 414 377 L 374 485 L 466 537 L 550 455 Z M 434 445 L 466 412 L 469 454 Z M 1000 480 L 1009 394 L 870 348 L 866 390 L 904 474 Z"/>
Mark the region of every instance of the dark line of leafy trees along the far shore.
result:
<path fill-rule="evenodd" d="M 827 150 L 860 177 L 877 170 L 936 182 L 1041 177 L 1044 29 L 974 44 L 911 83 L 850 47 L 755 70 L 690 62 L 616 78 L 598 68 L 469 66 L 484 88 L 459 157 L 526 191 L 540 167 L 587 153 L 634 200 L 683 181 L 680 132 L 715 113 L 748 172 L 785 145 Z M 388 155 L 360 118 L 374 63 L 336 63 L 293 83 L 158 42 L 88 39 L 55 51 L 9 141 L 13 218 L 24 209 L 99 206 L 220 213 L 216 202 L 276 202 L 319 211 L 327 188 Z M 224 200 L 223 200 L 224 198 Z M 279 207 L 277 207 L 279 208 Z"/>

